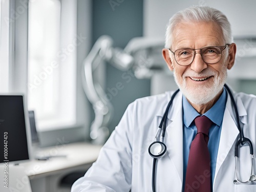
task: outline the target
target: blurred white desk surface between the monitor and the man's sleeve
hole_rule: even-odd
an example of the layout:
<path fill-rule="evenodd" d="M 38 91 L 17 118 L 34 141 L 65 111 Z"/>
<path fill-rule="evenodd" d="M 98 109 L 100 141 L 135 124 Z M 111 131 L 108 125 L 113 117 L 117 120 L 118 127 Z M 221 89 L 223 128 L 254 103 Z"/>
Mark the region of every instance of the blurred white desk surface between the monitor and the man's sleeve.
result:
<path fill-rule="evenodd" d="M 53 157 L 49 160 L 30 160 L 20 163 L 25 168 L 25 173 L 31 178 L 39 175 L 51 174 L 62 169 L 68 169 L 80 165 L 94 162 L 98 155 L 101 145 L 89 143 L 70 143 L 53 147 L 39 148 L 37 156 L 66 156 Z"/>

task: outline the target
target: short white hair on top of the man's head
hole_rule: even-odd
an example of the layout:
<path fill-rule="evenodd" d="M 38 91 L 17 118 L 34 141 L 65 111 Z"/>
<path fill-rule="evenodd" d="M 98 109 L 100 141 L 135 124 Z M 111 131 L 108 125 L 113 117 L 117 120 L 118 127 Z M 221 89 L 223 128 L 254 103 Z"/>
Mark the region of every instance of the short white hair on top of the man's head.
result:
<path fill-rule="evenodd" d="M 182 22 L 214 22 L 220 26 L 225 44 L 231 44 L 233 41 L 230 23 L 221 11 L 207 6 L 194 6 L 179 11 L 169 19 L 165 33 L 166 49 L 172 46 L 172 35 L 175 30 L 175 26 Z"/>

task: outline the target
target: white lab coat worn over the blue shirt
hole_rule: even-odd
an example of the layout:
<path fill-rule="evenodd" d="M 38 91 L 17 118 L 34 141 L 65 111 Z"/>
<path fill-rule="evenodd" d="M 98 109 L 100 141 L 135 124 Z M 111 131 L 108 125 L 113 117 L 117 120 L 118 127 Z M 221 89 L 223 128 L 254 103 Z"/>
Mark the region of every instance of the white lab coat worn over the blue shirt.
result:
<path fill-rule="evenodd" d="M 137 99 L 125 111 L 120 123 L 102 147 L 97 161 L 86 175 L 72 186 L 72 192 L 84 191 L 152 191 L 153 158 L 148 146 L 153 142 L 167 103 L 173 92 Z M 253 144 L 256 141 L 256 97 L 243 93 L 234 94 L 244 136 Z M 183 136 L 182 93 L 174 99 L 168 113 L 164 143 L 167 152 L 158 159 L 156 191 L 182 191 L 183 183 Z M 223 117 L 221 138 L 214 176 L 214 192 L 255 192 L 255 184 L 234 185 L 234 145 L 239 131 L 233 106 L 228 95 Z M 240 149 L 240 178 L 248 180 L 250 175 L 249 147 Z M 88 154 L 90 155 L 90 154 Z M 253 161 L 254 167 L 255 161 Z M 254 173 L 255 170 L 254 170 Z"/>

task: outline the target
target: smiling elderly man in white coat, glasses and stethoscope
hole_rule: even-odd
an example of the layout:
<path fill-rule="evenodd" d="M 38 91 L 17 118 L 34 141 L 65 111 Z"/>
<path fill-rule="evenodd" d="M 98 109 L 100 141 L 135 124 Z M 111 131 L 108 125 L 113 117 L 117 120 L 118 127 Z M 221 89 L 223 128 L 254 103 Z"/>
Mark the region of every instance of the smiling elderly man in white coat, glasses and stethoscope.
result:
<path fill-rule="evenodd" d="M 236 55 L 226 16 L 176 13 L 162 54 L 180 91 L 131 103 L 71 191 L 256 191 L 256 97 L 224 87 Z"/>

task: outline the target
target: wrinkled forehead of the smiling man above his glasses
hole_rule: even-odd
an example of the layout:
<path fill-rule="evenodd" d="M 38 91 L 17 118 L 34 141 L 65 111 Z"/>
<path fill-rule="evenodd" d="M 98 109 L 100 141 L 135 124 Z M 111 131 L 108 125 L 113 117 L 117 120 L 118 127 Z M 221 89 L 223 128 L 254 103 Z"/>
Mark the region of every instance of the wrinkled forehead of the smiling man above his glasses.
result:
<path fill-rule="evenodd" d="M 214 22 L 183 22 L 172 33 L 172 49 L 223 46 L 221 27 Z"/>

